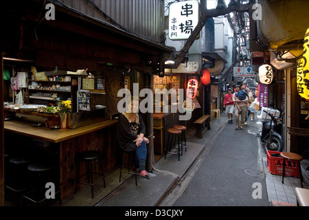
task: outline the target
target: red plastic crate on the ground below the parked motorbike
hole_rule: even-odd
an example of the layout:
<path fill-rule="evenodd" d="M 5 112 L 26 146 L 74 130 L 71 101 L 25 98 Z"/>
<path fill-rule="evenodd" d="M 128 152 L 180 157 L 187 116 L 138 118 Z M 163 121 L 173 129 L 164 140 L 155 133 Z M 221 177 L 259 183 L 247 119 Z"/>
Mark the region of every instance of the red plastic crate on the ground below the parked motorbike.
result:
<path fill-rule="evenodd" d="M 282 175 L 283 173 L 283 158 L 272 157 L 272 153 L 280 154 L 279 151 L 267 151 L 267 168 L 270 173 Z M 286 172 L 285 176 L 300 177 L 297 162 L 291 162 L 286 159 Z"/>

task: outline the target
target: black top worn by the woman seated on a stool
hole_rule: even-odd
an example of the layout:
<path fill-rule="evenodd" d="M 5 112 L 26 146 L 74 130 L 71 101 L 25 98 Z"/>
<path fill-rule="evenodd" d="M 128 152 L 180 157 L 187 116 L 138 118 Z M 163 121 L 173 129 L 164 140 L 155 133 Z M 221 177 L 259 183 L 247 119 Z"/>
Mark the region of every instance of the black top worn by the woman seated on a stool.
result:
<path fill-rule="evenodd" d="M 137 129 L 137 133 L 134 133 L 132 129 Z M 122 113 L 119 114 L 117 123 L 117 142 L 121 149 L 124 151 L 136 150 L 136 143 L 133 142 L 137 139 L 137 135 L 140 133 L 146 134 L 146 126 L 139 113 L 139 125 L 134 122 L 129 123 L 128 118 Z"/>

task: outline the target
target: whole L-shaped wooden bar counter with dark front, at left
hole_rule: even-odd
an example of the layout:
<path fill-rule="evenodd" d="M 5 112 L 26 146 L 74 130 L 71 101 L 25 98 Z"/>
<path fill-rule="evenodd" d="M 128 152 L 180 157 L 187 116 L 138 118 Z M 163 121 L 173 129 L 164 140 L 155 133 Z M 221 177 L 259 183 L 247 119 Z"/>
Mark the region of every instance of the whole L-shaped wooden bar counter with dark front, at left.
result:
<path fill-rule="evenodd" d="M 117 120 L 97 122 L 77 129 L 49 129 L 42 126 L 33 126 L 30 122 L 5 121 L 5 151 L 18 153 L 16 146 L 27 151 L 52 152 L 54 162 L 59 167 L 59 184 L 61 197 L 66 198 L 73 194 L 76 177 L 76 156 L 81 151 L 99 150 L 103 155 L 103 170 L 105 174 L 117 167 L 116 129 Z M 48 142 L 48 147 L 32 147 L 33 140 Z M 34 150 L 33 150 L 34 149 Z M 99 173 L 99 167 L 94 167 Z M 85 172 L 81 167 L 80 174 Z M 82 184 L 79 184 L 82 187 Z"/>

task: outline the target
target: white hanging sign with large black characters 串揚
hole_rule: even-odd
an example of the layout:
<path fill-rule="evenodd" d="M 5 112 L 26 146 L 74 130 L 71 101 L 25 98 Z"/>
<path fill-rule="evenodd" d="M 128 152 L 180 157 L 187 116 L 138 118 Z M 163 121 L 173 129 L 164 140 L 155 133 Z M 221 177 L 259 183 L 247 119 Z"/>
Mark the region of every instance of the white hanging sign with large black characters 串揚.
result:
<path fill-rule="evenodd" d="M 199 22 L 199 1 L 181 1 L 170 5 L 168 37 L 186 40 Z"/>

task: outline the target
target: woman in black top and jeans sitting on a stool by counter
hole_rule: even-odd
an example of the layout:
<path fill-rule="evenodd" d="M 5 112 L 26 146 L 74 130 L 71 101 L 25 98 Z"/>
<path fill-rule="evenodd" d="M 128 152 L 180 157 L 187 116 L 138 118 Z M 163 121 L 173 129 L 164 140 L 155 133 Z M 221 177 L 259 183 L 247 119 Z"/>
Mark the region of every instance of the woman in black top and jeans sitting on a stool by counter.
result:
<path fill-rule="evenodd" d="M 146 126 L 139 112 L 139 102 L 131 101 L 131 111 L 125 111 L 119 115 L 117 124 L 117 141 L 123 151 L 136 151 L 135 168 L 137 173 L 149 179 L 146 172 L 147 146 L 149 143 Z"/>

